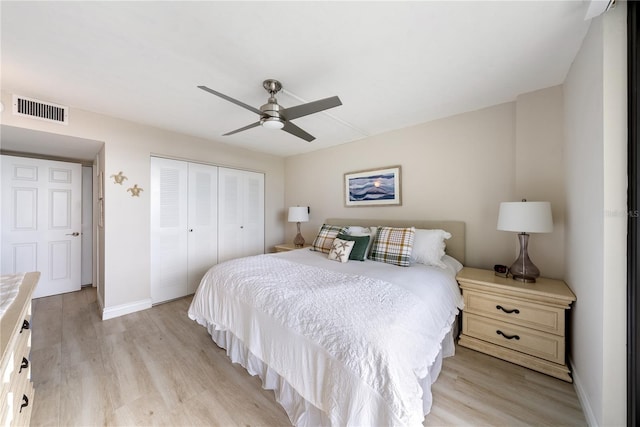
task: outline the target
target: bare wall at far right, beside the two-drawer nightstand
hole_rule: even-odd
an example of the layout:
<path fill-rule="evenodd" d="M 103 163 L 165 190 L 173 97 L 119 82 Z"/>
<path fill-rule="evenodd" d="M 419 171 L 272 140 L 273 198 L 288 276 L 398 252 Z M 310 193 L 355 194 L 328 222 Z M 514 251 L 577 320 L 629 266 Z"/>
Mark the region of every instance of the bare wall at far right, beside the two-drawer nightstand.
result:
<path fill-rule="evenodd" d="M 626 3 L 595 18 L 564 84 L 571 362 L 590 425 L 626 425 Z"/>

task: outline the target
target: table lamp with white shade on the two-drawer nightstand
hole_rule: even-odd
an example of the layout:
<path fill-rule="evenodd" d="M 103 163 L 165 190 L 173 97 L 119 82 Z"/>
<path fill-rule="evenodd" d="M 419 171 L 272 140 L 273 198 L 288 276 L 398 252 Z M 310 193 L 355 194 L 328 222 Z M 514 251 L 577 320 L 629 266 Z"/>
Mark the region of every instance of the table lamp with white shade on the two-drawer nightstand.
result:
<path fill-rule="evenodd" d="M 509 272 L 515 280 L 534 283 L 540 276 L 527 252 L 529 244 L 528 233 L 550 233 L 553 231 L 551 218 L 551 203 L 549 202 L 503 202 L 500 203 L 498 213 L 498 230 L 518 232 L 520 240 L 520 255 L 509 267 Z"/>

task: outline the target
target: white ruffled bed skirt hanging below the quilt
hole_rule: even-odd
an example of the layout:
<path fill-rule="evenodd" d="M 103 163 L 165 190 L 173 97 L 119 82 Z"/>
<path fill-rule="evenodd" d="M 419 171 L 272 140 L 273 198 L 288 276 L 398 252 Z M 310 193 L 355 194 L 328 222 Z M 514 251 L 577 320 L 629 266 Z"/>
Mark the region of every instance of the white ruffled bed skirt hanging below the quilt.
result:
<path fill-rule="evenodd" d="M 455 322 L 457 323 L 457 322 Z M 424 415 L 431 410 L 432 395 L 431 385 L 438 379 L 442 369 L 443 357 L 453 356 L 455 345 L 453 337 L 454 328 L 440 344 L 440 352 L 429 369 L 429 374 L 420 380 L 422 387 L 422 404 Z M 251 353 L 244 343 L 233 333 L 225 330 L 217 330 L 215 325 L 207 324 L 207 330 L 213 341 L 225 349 L 233 363 L 239 363 L 251 375 L 257 375 L 262 380 L 265 390 L 273 390 L 276 401 L 284 408 L 289 420 L 295 426 L 329 426 L 329 417 L 315 405 L 306 401 L 298 392 L 275 370 L 267 366 L 260 358 Z"/>

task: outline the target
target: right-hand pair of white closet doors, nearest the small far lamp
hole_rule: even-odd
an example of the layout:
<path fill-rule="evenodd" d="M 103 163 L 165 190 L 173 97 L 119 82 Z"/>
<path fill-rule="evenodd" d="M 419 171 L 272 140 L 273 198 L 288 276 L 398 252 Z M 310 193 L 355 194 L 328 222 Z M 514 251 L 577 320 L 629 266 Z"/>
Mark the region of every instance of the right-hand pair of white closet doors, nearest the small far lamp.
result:
<path fill-rule="evenodd" d="M 264 174 L 220 168 L 218 260 L 264 253 Z"/>

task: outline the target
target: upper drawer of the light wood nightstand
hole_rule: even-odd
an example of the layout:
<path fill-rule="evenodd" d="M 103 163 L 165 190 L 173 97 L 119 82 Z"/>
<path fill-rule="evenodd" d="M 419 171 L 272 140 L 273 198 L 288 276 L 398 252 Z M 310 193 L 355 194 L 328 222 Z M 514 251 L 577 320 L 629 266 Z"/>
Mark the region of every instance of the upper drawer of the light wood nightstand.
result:
<path fill-rule="evenodd" d="M 565 311 L 562 308 L 467 290 L 464 292 L 464 311 L 564 336 Z"/>

